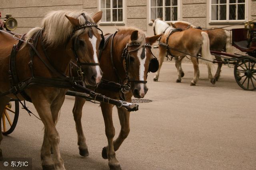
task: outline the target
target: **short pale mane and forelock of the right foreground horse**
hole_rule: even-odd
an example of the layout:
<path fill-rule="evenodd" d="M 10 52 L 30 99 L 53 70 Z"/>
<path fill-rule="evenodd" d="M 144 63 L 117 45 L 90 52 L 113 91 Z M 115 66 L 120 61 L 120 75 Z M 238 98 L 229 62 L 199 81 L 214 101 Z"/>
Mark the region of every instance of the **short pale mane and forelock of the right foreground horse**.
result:
<path fill-rule="evenodd" d="M 131 43 L 140 43 L 140 46 L 138 48 L 141 48 L 145 42 L 146 42 L 146 35 L 144 34 L 144 32 L 138 28 L 135 27 L 120 27 L 118 28 L 118 33 L 120 33 L 121 35 L 132 35 L 133 31 L 138 31 L 138 39 L 131 41 Z"/>

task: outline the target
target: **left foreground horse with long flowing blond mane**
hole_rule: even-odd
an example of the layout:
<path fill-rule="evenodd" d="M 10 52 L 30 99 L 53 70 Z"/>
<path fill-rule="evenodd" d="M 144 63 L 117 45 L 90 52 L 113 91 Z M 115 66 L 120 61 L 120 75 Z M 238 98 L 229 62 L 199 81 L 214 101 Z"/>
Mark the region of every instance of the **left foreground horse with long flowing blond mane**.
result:
<path fill-rule="evenodd" d="M 101 36 L 95 26 L 86 27 L 86 23 L 95 22 L 96 24 L 101 17 L 102 12 L 96 13 L 92 18 L 82 11 L 55 11 L 47 14 L 42 21 L 42 28 L 37 27 L 30 30 L 25 37 L 28 41 L 23 43 L 20 49 L 17 49 L 15 60 L 19 80 L 24 81 L 30 78 L 31 74 L 34 77 L 44 78 L 58 78 L 58 74 L 68 76 L 70 60 L 77 57 L 77 60 L 82 64 L 91 63 L 91 66 L 83 65 L 83 72 L 86 74 L 84 76 L 85 82 L 88 85 L 98 84 L 102 76 L 100 67 L 96 65 L 98 63 L 97 49 L 100 45 Z M 40 30 L 42 34 L 39 34 L 38 43 L 33 45 L 38 53 L 31 60 L 30 48 L 32 46 L 29 43 Z M 76 49 L 74 46 L 78 42 L 79 49 Z M 16 41 L 12 37 L 0 32 L 0 117 L 2 117 L 3 109 L 10 98 L 24 100 L 20 93 L 1 96 L 12 88 L 8 81 L 10 77 L 8 70 L 10 52 L 14 44 Z M 44 49 L 44 46 L 47 49 Z M 46 62 L 44 63 L 43 60 Z M 32 64 L 32 67 L 28 63 Z M 54 66 L 58 73 L 48 69 L 49 65 Z M 44 123 L 44 141 L 41 150 L 43 169 L 65 169 L 59 150 L 60 137 L 55 125 L 67 90 L 66 88 L 40 85 L 29 86 L 24 90 Z M 2 133 L 0 133 L 0 141 L 2 139 Z M 54 153 L 52 158 L 50 147 Z M 2 150 L 0 150 L 0 159 L 2 159 Z"/>

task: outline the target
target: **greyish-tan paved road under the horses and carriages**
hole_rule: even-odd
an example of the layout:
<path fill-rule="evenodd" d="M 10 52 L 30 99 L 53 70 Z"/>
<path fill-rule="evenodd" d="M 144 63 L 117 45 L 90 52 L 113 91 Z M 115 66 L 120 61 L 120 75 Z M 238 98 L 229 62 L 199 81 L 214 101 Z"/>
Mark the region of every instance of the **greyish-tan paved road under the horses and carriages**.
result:
<path fill-rule="evenodd" d="M 140 104 L 130 117 L 131 131 L 116 156 L 123 170 L 256 169 L 256 92 L 242 90 L 233 68 L 224 66 L 215 86 L 200 65 L 200 80 L 190 86 L 192 64 L 183 64 L 185 76 L 176 83 L 173 63 L 164 63 L 159 82 L 148 76 L 151 103 Z M 57 129 L 60 151 L 68 170 L 107 170 L 101 158 L 107 143 L 104 121 L 97 104 L 87 103 L 82 117 L 90 155 L 78 154 L 72 117 L 74 99 L 66 97 Z M 28 104 L 36 113 L 34 107 Z M 114 109 L 116 133 L 119 131 Z M 22 109 L 14 132 L 1 143 L 4 157 L 31 157 L 33 169 L 41 169 L 43 125 Z"/>

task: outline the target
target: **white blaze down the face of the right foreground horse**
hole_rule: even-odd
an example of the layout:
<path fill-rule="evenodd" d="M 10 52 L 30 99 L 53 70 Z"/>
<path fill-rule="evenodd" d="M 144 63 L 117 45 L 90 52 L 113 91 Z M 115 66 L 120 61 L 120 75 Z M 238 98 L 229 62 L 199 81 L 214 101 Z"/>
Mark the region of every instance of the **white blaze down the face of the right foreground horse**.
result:
<path fill-rule="evenodd" d="M 139 68 L 139 78 L 140 81 L 144 81 L 144 72 L 145 72 L 145 63 L 146 63 L 146 50 L 145 49 L 145 57 L 144 59 L 141 59 L 141 54 L 142 54 L 142 48 L 140 48 L 137 52 L 137 57 L 140 61 L 140 68 Z M 144 97 L 145 92 L 144 92 L 144 83 L 140 83 L 140 96 Z"/>

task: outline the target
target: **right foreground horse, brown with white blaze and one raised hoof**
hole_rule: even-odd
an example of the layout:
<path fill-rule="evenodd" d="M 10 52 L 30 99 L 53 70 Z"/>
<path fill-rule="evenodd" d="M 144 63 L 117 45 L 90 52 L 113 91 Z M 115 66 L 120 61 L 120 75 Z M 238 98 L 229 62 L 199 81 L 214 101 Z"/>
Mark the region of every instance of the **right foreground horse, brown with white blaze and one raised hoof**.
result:
<path fill-rule="evenodd" d="M 100 68 L 103 71 L 102 82 L 96 89 L 97 92 L 108 97 L 131 102 L 132 96 L 143 98 L 148 91 L 146 79 L 148 71 L 156 72 L 158 61 L 152 57 L 151 44 L 160 35 L 145 37 L 144 33 L 132 27 L 120 28 L 111 35 L 100 56 Z M 130 88 L 129 88 L 130 87 Z M 125 92 L 125 93 L 123 93 Z M 76 131 L 78 133 L 78 145 L 80 155 L 88 156 L 88 147 L 82 130 L 82 107 L 85 100 L 76 98 L 73 108 Z M 102 149 L 102 157 L 108 159 L 110 169 L 121 169 L 116 159 L 115 151 L 126 139 L 130 132 L 130 112 L 124 107 L 117 108 L 121 124 L 121 131 L 116 140 L 115 128 L 112 121 L 113 105 L 100 104 L 105 122 L 105 133 L 108 145 Z"/>

